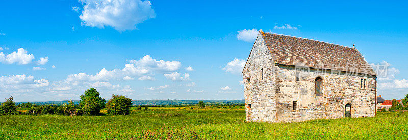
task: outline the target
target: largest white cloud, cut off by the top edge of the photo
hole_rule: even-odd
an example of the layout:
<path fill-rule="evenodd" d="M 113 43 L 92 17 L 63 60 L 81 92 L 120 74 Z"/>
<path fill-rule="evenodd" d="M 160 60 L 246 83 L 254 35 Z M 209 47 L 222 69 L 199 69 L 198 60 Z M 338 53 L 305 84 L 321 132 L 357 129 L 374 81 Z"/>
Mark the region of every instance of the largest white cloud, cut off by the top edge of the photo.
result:
<path fill-rule="evenodd" d="M 79 0 L 84 5 L 79 16 L 81 24 L 118 31 L 136 29 L 136 25 L 156 16 L 150 1 L 141 0 Z"/>

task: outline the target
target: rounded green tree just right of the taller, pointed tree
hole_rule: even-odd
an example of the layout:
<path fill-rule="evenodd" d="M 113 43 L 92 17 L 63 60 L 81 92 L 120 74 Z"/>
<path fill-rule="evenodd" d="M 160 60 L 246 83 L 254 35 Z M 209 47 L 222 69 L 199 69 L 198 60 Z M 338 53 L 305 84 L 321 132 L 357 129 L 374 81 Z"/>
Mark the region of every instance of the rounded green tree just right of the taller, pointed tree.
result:
<path fill-rule="evenodd" d="M 112 95 L 112 99 L 106 103 L 109 115 L 129 115 L 132 99 L 124 96 Z"/>

